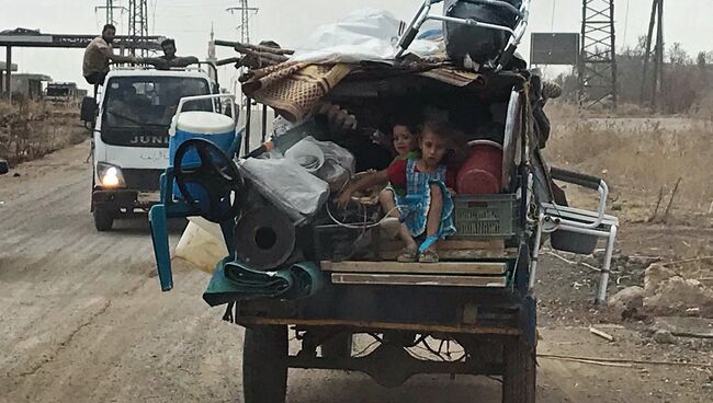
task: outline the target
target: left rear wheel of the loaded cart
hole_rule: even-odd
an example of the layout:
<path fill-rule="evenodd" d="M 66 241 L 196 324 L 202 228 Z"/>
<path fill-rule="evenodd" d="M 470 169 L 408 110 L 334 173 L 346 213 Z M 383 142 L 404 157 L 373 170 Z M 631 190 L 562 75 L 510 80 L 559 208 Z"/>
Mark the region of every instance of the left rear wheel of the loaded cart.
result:
<path fill-rule="evenodd" d="M 259 325 L 245 331 L 245 403 L 284 403 L 287 394 L 287 327 Z"/>

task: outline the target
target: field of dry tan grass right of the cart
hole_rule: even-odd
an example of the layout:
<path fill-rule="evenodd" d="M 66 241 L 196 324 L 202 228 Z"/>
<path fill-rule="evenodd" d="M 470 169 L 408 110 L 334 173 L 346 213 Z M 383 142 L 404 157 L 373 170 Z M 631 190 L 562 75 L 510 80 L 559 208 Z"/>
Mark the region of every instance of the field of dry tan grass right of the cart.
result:
<path fill-rule="evenodd" d="M 713 124 L 690 118 L 553 118 L 545 154 L 553 165 L 601 175 L 614 198 L 649 208 L 680 177 L 676 208 L 705 212 Z"/>

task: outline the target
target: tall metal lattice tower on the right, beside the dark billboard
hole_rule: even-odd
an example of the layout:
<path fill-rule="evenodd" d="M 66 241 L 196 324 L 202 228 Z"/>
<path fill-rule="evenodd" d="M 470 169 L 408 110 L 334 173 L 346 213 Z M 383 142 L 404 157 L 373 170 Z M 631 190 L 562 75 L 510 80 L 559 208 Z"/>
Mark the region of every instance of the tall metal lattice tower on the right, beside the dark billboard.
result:
<path fill-rule="evenodd" d="M 579 104 L 616 108 L 614 0 L 582 0 Z M 611 101 L 611 103 L 609 103 Z"/>

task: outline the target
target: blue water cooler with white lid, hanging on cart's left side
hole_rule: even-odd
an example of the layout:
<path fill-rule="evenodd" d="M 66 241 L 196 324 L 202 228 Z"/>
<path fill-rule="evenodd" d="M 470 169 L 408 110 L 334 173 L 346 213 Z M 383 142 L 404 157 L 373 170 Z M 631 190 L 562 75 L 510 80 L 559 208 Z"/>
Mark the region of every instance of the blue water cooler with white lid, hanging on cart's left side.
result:
<path fill-rule="evenodd" d="M 177 116 L 173 118 L 176 122 L 173 122 L 172 127 L 176 127 L 176 129 L 169 133 L 169 166 L 173 166 L 173 159 L 179 146 L 189 139 L 203 138 L 212 141 L 229 157 L 235 153 L 239 140 L 235 130 L 236 123 L 231 117 L 204 111 L 180 112 L 179 108 Z M 195 149 L 189 150 L 183 157 L 183 166 L 188 168 L 200 163 L 201 159 Z M 186 187 L 194 199 L 203 202 L 202 196 L 205 195 L 205 192 L 200 185 L 188 184 Z M 176 184 L 173 184 L 173 196 L 179 200 L 183 199 L 181 191 Z M 201 206 L 204 207 L 203 203 L 201 203 Z"/>

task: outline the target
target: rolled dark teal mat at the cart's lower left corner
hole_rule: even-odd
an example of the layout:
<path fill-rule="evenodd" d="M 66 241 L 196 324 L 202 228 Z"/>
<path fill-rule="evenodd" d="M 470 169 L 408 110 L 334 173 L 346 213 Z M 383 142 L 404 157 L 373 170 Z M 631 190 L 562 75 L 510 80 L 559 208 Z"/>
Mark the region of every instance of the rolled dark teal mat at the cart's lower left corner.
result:
<path fill-rule="evenodd" d="M 298 299 L 314 295 L 324 283 L 321 269 L 312 262 L 263 272 L 226 257 L 217 264 L 203 300 L 215 307 L 257 298 Z"/>

